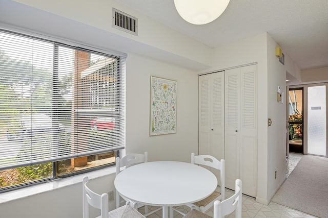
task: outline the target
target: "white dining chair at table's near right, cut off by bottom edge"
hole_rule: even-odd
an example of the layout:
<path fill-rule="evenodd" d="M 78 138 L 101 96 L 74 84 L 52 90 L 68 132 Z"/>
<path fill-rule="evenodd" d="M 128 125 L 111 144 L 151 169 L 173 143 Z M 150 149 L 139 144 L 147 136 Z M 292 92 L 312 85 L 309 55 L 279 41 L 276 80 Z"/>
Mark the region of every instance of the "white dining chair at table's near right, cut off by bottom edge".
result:
<path fill-rule="evenodd" d="M 241 218 L 241 205 L 242 205 L 242 190 L 241 190 L 241 180 L 236 179 L 235 182 L 235 193 L 230 198 L 224 200 L 224 201 L 215 201 L 214 202 L 214 211 L 213 211 L 213 217 L 214 218 L 222 218 L 225 215 L 228 215 L 235 212 L 236 218 Z M 205 213 L 202 213 L 198 210 L 191 210 L 187 215 L 183 216 L 183 218 L 211 218 L 212 216 L 209 216 Z"/>

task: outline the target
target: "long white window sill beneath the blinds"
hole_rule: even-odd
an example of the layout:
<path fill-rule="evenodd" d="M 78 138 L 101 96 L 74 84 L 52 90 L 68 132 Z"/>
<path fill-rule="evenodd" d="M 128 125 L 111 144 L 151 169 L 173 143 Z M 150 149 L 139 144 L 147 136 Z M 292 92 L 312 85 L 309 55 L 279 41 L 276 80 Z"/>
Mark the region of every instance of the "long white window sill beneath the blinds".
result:
<path fill-rule="evenodd" d="M 82 182 L 83 177 L 86 175 L 88 175 L 89 179 L 95 179 L 95 178 L 100 178 L 103 176 L 115 174 L 115 172 L 116 172 L 115 166 L 111 166 L 103 169 L 98 169 L 96 171 L 88 172 L 85 174 L 79 174 L 63 179 L 55 179 L 43 184 L 36 184 L 25 188 L 7 191 L 4 193 L 0 193 L 0 204 L 80 183 Z"/>

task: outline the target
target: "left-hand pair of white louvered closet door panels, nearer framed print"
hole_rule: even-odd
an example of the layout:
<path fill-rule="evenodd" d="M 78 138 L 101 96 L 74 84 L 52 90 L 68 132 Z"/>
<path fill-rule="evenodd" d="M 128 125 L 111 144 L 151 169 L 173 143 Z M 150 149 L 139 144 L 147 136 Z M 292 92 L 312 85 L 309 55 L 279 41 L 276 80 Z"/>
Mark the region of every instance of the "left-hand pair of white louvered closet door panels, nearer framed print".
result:
<path fill-rule="evenodd" d="M 199 76 L 199 154 L 224 157 L 224 71 Z"/>

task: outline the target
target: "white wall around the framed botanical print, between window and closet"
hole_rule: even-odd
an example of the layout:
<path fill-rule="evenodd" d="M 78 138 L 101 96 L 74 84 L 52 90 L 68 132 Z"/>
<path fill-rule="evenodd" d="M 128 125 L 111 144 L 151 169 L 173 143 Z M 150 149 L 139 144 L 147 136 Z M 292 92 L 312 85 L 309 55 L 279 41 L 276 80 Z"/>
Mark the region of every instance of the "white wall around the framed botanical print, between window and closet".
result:
<path fill-rule="evenodd" d="M 177 133 L 149 136 L 150 76 L 178 82 Z M 127 58 L 127 153 L 148 151 L 149 160 L 190 162 L 198 153 L 198 75 L 147 57 Z"/>

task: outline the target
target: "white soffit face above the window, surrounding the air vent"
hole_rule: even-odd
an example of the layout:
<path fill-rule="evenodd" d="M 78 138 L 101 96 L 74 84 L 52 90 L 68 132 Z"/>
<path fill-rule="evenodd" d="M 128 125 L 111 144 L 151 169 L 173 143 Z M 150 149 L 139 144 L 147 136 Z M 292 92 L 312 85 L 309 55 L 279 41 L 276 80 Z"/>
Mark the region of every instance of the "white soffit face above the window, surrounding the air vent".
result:
<path fill-rule="evenodd" d="M 7 4 L 8 0 L 2 0 L 2 2 L 3 3 L 0 4 L 3 4 L 3 7 L 6 8 L 9 7 L 7 5 L 11 6 L 11 5 L 18 4 L 18 3 Z M 161 25 L 159 22 L 156 22 L 155 20 L 149 19 L 147 16 L 142 15 L 137 11 L 119 3 L 119 1 L 93 0 L 93 1 L 83 1 L 83 3 L 81 3 L 80 0 L 70 0 L 70 1 L 15 0 L 15 2 L 26 4 L 36 9 L 47 11 L 54 15 L 59 15 L 60 17 L 64 17 L 66 19 L 68 18 L 70 20 L 84 23 L 85 25 L 91 26 L 101 31 L 106 31 L 107 34 L 111 35 L 111 38 L 107 39 L 108 41 L 111 40 L 114 41 L 114 37 L 116 38 L 117 36 L 119 36 L 119 39 L 116 40 L 120 42 L 127 42 L 128 45 L 130 45 L 130 43 L 133 44 L 133 47 L 127 47 L 124 50 L 120 49 L 121 52 L 126 52 L 126 50 L 129 49 L 130 50 L 134 50 L 135 48 L 139 49 L 139 45 L 141 44 L 141 45 L 151 46 L 153 52 L 154 50 L 157 50 L 156 53 L 163 53 L 163 54 L 168 53 L 180 57 L 182 60 L 185 59 L 185 61 L 189 65 L 198 63 L 199 66 L 201 66 L 201 68 L 204 68 L 212 64 L 211 63 L 212 50 L 210 47 L 194 39 L 191 39 L 190 37 L 187 37 L 186 35 L 183 35 L 182 33 L 179 33 L 171 28 Z M 5 3 L 7 5 L 5 5 Z M 24 5 L 19 7 L 24 7 Z M 122 12 L 125 12 L 129 15 L 138 18 L 138 36 L 134 36 L 129 33 L 112 28 L 112 23 L 111 23 L 112 8 L 118 9 Z M 25 7 L 25 9 L 27 9 L 27 7 Z M 4 10 L 3 13 L 8 13 L 7 11 Z M 38 10 L 34 10 L 33 14 L 35 15 L 38 12 L 39 12 Z M 50 16 L 53 16 L 50 13 L 48 14 Z M 31 17 L 30 15 L 31 13 L 26 15 L 29 16 L 27 20 L 33 19 L 33 17 Z M 6 17 L 11 17 L 11 16 L 19 17 L 19 15 L 17 14 L 12 15 L 8 13 L 6 15 Z M 8 19 L 6 17 L 4 17 L 3 19 Z M 40 26 L 46 26 L 49 25 L 49 23 L 51 23 L 51 25 L 56 26 L 56 22 L 53 22 L 52 20 L 48 20 L 47 17 L 44 17 L 43 19 L 44 21 L 40 23 Z M 25 22 L 24 18 L 22 21 Z M 34 20 L 34 23 L 37 23 L 37 21 Z M 63 22 L 63 25 L 64 25 L 63 29 L 65 31 L 69 31 L 66 30 L 65 28 L 67 22 Z M 61 32 L 63 30 L 58 29 L 57 31 Z M 84 31 L 81 32 L 81 34 L 84 34 L 85 37 L 93 38 L 93 40 L 97 39 L 98 37 L 101 37 L 96 33 L 93 33 L 93 31 L 91 32 Z M 117 49 L 115 43 L 113 43 L 112 49 Z M 145 50 L 145 47 L 142 50 Z M 159 54 L 152 54 L 150 55 L 150 57 L 153 57 L 154 55 L 159 55 Z"/>

